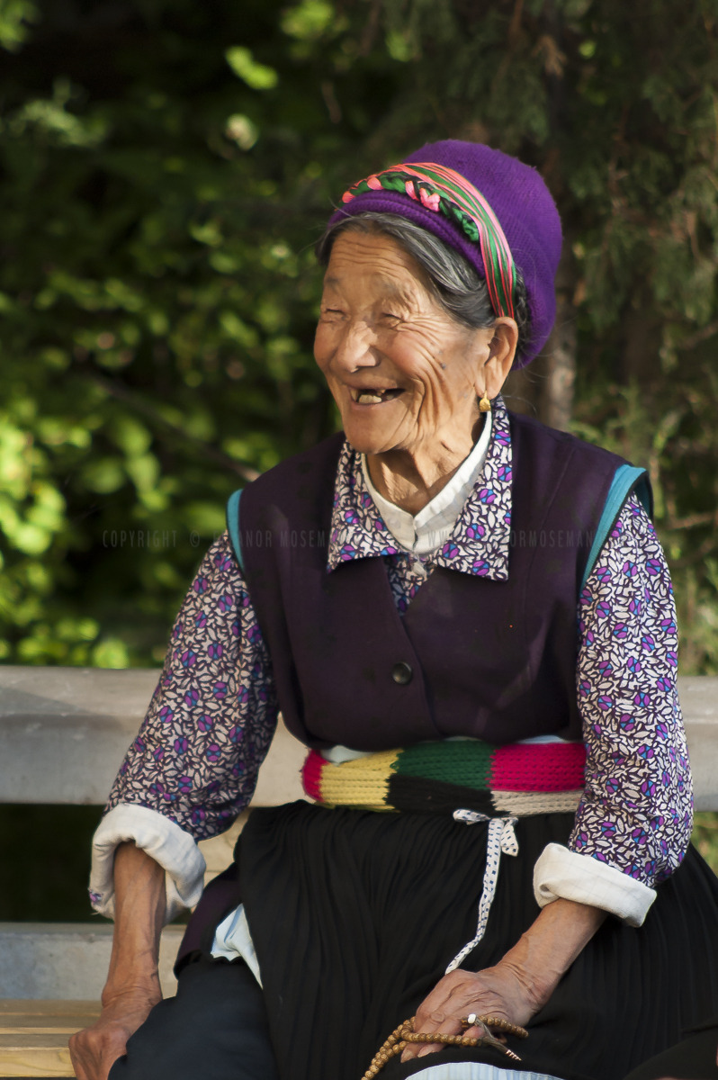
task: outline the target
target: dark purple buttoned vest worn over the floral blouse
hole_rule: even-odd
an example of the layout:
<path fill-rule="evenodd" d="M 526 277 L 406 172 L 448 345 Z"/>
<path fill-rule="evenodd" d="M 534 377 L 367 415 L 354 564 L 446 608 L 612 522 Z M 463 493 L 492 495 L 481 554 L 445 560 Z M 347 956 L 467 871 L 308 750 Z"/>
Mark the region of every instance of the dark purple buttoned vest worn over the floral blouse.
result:
<path fill-rule="evenodd" d="M 341 435 L 244 489 L 249 595 L 284 720 L 302 742 L 379 751 L 449 735 L 581 738 L 578 590 L 622 459 L 521 416 L 511 437 L 509 580 L 438 568 L 403 617 L 381 557 L 327 570 Z"/>

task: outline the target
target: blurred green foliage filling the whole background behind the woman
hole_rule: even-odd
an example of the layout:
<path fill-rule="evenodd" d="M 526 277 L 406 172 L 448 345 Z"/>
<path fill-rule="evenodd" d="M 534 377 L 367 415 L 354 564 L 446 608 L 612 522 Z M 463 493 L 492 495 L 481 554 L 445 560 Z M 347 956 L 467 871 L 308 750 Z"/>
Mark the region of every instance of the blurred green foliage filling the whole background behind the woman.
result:
<path fill-rule="evenodd" d="M 328 433 L 327 208 L 431 138 L 545 175 L 577 430 L 648 463 L 716 671 L 717 0 L 0 0 L 0 650 L 157 663 L 229 492 Z"/>

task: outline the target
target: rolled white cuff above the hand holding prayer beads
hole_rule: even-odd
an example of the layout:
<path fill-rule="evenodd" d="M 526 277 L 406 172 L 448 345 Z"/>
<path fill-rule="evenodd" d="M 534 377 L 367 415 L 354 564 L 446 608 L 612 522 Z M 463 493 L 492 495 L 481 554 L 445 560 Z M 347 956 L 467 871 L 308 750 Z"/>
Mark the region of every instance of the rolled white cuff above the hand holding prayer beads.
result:
<path fill-rule="evenodd" d="M 655 900 L 655 890 L 591 855 L 548 843 L 533 867 L 533 894 L 539 907 L 574 900 L 610 912 L 629 927 L 640 927 Z"/>

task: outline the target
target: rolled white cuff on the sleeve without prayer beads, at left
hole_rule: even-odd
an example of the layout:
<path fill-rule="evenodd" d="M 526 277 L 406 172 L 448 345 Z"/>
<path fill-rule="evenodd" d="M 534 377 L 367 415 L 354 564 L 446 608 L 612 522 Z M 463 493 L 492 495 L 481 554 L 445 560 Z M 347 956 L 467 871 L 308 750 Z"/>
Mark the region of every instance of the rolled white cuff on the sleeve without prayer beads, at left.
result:
<path fill-rule="evenodd" d="M 105 814 L 92 841 L 90 901 L 99 915 L 114 918 L 114 851 L 128 840 L 164 867 L 166 922 L 197 904 L 205 862 L 194 839 L 157 810 L 120 802 Z"/>

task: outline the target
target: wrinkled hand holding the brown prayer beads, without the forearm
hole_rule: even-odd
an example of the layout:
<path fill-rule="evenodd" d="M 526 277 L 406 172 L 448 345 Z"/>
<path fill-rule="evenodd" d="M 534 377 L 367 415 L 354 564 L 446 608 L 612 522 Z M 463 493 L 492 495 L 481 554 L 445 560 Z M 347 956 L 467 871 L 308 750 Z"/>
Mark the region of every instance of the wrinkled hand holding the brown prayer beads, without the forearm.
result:
<path fill-rule="evenodd" d="M 470 1013 L 483 1016 L 500 1016 L 511 1024 L 524 1026 L 539 1011 L 543 1001 L 533 988 L 526 985 L 520 974 L 505 963 L 484 971 L 452 971 L 438 981 L 431 994 L 417 1010 L 415 1031 L 441 1031 L 443 1035 L 480 1036 L 477 1027 L 465 1031 L 461 1017 Z M 442 1050 L 438 1042 L 426 1042 L 407 1047 L 402 1061 L 423 1057 Z"/>

